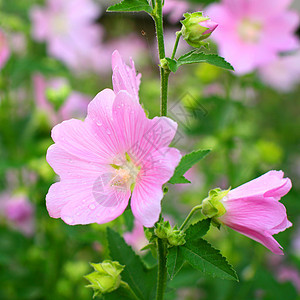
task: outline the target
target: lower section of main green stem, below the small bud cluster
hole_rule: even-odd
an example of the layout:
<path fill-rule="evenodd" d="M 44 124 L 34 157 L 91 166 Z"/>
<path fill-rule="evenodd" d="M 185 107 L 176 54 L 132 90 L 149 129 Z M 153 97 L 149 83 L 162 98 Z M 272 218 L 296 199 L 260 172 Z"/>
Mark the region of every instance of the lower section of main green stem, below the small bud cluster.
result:
<path fill-rule="evenodd" d="M 163 300 L 167 281 L 167 248 L 165 241 L 157 239 L 157 252 L 158 252 L 158 273 L 157 273 L 157 290 L 156 300 Z"/>

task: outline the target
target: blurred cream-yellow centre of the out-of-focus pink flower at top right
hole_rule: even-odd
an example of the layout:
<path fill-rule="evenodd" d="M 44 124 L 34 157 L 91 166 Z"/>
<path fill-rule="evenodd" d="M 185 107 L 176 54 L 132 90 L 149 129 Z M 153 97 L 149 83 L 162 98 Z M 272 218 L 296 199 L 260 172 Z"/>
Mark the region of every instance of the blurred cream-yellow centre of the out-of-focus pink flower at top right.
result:
<path fill-rule="evenodd" d="M 257 21 L 244 19 L 238 26 L 238 33 L 246 43 L 257 43 L 261 37 L 262 24 Z"/>

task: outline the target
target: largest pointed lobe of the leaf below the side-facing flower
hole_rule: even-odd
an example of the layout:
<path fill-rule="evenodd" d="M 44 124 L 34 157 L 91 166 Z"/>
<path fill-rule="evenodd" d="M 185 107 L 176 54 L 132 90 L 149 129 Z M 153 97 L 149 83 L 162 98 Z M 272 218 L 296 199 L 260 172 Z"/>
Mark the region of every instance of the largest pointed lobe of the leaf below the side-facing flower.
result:
<path fill-rule="evenodd" d="M 201 238 L 188 240 L 181 251 L 185 260 L 195 269 L 213 277 L 238 281 L 236 272 L 226 258 L 207 241 Z"/>

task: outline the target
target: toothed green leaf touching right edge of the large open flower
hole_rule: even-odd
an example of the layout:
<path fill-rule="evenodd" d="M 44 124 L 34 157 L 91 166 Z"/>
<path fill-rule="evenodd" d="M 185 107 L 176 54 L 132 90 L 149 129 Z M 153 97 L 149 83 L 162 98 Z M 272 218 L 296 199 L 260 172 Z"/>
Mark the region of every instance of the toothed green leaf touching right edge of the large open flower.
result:
<path fill-rule="evenodd" d="M 172 178 L 169 180 L 169 183 L 190 183 L 183 175 L 209 152 L 210 150 L 197 150 L 183 156 L 179 165 L 176 167 Z"/>

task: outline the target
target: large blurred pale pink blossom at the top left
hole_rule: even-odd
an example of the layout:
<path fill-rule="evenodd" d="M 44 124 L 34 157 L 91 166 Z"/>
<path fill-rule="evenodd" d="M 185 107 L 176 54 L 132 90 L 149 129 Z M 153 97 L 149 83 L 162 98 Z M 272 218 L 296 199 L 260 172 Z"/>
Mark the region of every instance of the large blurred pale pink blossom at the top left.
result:
<path fill-rule="evenodd" d="M 32 36 L 47 43 L 49 55 L 82 71 L 91 67 L 86 61 L 102 41 L 99 15 L 92 0 L 47 0 L 45 7 L 31 9 Z"/>

